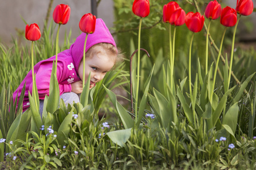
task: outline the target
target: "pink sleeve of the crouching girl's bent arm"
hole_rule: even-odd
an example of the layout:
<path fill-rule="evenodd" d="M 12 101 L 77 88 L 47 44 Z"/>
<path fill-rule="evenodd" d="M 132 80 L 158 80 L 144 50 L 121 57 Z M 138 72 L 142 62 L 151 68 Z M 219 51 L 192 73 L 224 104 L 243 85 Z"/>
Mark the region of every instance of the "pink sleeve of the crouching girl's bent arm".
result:
<path fill-rule="evenodd" d="M 36 72 L 36 87 L 38 88 L 39 99 L 44 99 L 47 95 L 49 96 L 49 82 L 52 73 L 52 62 L 42 63 Z M 61 76 L 63 75 L 63 64 L 58 63 L 57 65 L 57 80 L 60 82 Z M 64 92 L 71 92 L 71 84 L 59 84 L 60 95 Z M 30 85 L 30 93 L 32 92 L 32 83 Z"/>

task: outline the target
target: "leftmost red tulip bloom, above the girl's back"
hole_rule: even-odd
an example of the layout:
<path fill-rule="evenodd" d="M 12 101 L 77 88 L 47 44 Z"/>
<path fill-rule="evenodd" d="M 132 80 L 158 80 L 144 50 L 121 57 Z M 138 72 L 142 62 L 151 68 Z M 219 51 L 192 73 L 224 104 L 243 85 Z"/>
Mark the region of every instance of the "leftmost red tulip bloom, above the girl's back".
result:
<path fill-rule="evenodd" d="M 26 25 L 26 33 L 25 33 L 25 37 L 27 40 L 30 41 L 36 41 L 39 40 L 41 37 L 41 32 L 40 29 L 38 27 L 38 24 L 31 24 L 28 26 L 28 24 Z"/>

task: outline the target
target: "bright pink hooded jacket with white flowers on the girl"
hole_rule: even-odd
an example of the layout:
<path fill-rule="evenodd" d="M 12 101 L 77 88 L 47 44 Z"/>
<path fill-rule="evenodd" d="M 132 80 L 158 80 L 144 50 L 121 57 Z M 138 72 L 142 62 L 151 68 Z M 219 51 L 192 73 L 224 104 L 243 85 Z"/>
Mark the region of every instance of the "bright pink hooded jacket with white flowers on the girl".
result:
<path fill-rule="evenodd" d="M 85 36 L 86 33 L 81 33 L 81 35 L 77 37 L 76 41 L 69 49 L 58 54 L 57 80 L 59 82 L 60 95 L 64 92 L 71 92 L 71 83 L 81 80 L 79 76 L 77 76 L 77 71 L 84 52 Z M 108 27 L 106 27 L 102 19 L 98 18 L 96 19 L 96 28 L 94 33 L 88 35 L 85 50 L 87 51 L 91 46 L 100 42 L 107 42 L 116 46 Z M 36 63 L 34 66 L 39 99 L 44 100 L 46 95 L 49 96 L 49 82 L 51 78 L 52 63 L 54 60 L 55 56 L 52 56 L 51 58 Z M 32 70 L 28 72 L 22 83 L 13 93 L 13 101 L 15 101 L 18 94 L 17 98 L 19 102 L 19 97 L 25 82 L 26 90 L 23 99 L 23 112 L 30 107 L 28 91 L 30 91 L 30 94 L 32 94 Z"/>

